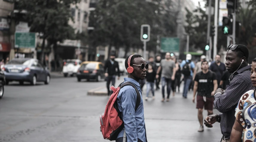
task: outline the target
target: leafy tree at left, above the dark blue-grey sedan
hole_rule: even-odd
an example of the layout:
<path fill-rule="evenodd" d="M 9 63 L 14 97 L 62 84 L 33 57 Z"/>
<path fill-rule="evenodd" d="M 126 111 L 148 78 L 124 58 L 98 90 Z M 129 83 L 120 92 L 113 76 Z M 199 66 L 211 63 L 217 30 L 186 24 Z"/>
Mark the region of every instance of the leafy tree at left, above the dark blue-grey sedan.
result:
<path fill-rule="evenodd" d="M 70 5 L 80 0 L 19 0 L 18 10 L 26 10 L 31 32 L 37 32 L 43 39 L 41 60 L 44 60 L 45 40 L 48 46 L 74 38 L 74 29 L 68 25 L 72 19 Z"/>

